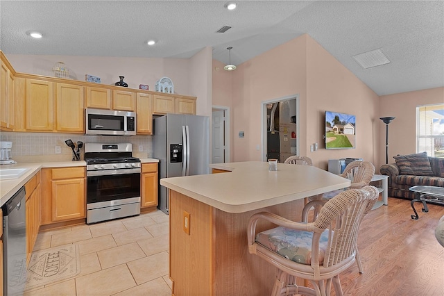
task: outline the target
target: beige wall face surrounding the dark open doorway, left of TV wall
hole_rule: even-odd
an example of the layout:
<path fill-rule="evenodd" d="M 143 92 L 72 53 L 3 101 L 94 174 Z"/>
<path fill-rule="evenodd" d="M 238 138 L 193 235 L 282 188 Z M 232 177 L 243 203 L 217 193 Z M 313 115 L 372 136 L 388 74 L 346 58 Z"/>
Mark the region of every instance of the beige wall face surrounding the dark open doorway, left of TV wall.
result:
<path fill-rule="evenodd" d="M 300 95 L 306 101 L 305 36 L 248 60 L 232 72 L 233 161 L 262 161 L 262 101 Z M 239 138 L 239 131 L 245 137 Z M 300 142 L 306 142 L 305 113 L 300 118 Z M 305 155 L 304 147 L 300 154 Z"/>

